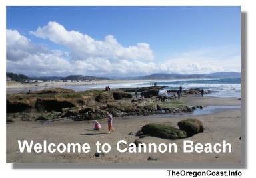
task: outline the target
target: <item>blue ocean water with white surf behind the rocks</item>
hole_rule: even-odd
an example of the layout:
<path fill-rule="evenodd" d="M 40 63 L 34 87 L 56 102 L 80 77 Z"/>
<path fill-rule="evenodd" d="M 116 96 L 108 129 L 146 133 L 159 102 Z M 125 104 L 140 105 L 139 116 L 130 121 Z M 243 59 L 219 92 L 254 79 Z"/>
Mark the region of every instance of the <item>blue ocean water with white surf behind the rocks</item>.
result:
<path fill-rule="evenodd" d="M 58 86 L 62 88 L 69 88 L 75 91 L 84 91 L 91 89 L 105 89 L 105 86 L 110 88 L 135 88 L 141 86 L 153 86 L 157 82 L 157 86 L 168 86 L 160 92 L 166 90 L 176 90 L 179 86 L 183 87 L 183 90 L 189 88 L 203 88 L 204 90 L 211 90 L 211 94 L 206 96 L 215 97 L 235 97 L 241 98 L 241 78 L 204 78 L 204 79 L 173 79 L 173 80 L 149 80 L 148 82 L 120 82 L 115 84 L 91 84 L 91 85 L 76 85 L 76 86 Z M 48 88 L 48 87 L 47 87 Z M 28 90 L 42 90 L 44 88 L 34 87 L 13 90 L 15 92 L 28 92 Z M 25 91 L 26 90 L 26 91 Z M 7 93 L 10 93 L 7 91 Z"/>

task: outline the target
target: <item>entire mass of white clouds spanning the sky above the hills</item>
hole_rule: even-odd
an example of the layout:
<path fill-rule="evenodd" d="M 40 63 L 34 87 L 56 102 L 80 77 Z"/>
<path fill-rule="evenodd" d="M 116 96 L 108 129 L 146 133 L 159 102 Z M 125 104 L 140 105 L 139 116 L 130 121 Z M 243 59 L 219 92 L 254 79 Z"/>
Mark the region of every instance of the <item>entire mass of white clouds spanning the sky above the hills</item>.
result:
<path fill-rule="evenodd" d="M 240 71 L 240 51 L 229 47 L 186 51 L 158 64 L 146 43 L 124 47 L 112 35 L 96 41 L 89 35 L 67 31 L 55 22 L 31 33 L 61 44 L 71 52 L 51 50 L 33 43 L 19 31 L 7 29 L 7 71 L 29 76 L 137 76 Z"/>

